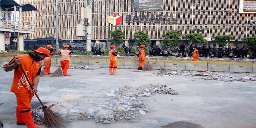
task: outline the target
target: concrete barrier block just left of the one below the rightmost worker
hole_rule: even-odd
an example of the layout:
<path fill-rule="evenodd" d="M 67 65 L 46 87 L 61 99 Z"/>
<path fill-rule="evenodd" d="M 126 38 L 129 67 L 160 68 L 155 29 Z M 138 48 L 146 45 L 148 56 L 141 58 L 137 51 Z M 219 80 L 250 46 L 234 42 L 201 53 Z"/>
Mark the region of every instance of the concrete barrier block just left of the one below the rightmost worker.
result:
<path fill-rule="evenodd" d="M 167 70 L 185 70 L 186 61 L 164 61 L 164 68 Z"/>

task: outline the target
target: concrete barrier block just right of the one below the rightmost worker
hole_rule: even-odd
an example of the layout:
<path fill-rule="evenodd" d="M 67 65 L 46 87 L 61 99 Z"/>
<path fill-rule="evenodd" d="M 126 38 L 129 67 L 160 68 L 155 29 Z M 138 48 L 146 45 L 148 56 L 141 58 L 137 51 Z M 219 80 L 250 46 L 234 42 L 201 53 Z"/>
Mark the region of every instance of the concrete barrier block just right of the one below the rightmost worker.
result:
<path fill-rule="evenodd" d="M 207 71 L 229 72 L 229 62 L 208 62 Z"/>

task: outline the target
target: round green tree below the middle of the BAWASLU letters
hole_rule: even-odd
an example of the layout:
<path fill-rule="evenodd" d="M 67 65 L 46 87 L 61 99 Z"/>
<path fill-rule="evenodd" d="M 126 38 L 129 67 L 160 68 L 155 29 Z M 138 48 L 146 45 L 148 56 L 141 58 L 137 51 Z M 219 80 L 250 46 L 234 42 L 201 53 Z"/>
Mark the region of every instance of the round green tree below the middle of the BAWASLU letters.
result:
<path fill-rule="evenodd" d="M 137 31 L 133 34 L 134 41 L 140 44 L 149 44 L 151 41 L 148 39 L 148 33 L 144 31 Z"/>

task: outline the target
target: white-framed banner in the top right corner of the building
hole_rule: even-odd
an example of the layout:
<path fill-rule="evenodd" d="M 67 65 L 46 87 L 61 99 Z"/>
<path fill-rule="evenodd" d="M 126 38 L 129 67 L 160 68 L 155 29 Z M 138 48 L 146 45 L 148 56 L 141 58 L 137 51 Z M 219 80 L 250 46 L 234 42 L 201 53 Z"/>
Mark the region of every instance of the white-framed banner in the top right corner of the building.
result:
<path fill-rule="evenodd" d="M 240 0 L 239 13 L 256 13 L 256 0 Z"/>

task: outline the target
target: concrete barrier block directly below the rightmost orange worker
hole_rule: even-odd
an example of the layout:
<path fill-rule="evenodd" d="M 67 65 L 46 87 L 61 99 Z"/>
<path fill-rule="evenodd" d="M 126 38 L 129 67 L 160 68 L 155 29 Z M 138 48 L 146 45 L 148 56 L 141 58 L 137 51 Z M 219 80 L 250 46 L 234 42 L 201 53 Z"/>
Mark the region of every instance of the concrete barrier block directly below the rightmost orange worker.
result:
<path fill-rule="evenodd" d="M 200 62 L 200 61 L 186 61 L 186 70 L 187 71 L 199 71 L 205 70 L 207 71 L 207 63 L 208 62 Z"/>

